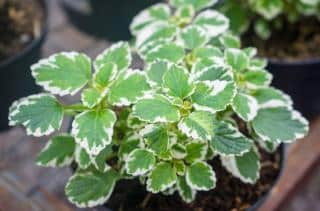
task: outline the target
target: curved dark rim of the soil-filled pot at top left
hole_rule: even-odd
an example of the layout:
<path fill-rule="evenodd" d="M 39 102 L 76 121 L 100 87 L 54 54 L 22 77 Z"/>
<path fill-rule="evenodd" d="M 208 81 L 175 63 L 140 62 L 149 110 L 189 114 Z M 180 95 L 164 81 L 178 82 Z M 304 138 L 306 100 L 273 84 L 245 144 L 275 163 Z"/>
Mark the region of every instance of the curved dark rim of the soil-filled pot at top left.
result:
<path fill-rule="evenodd" d="M 48 10 L 48 0 L 38 0 L 43 8 L 43 12 L 44 12 L 44 22 L 43 22 L 43 26 L 42 26 L 42 30 L 41 30 L 41 35 L 39 37 L 37 37 L 36 39 L 32 40 L 32 42 L 27 45 L 21 52 L 19 52 L 16 55 L 13 55 L 3 61 L 0 61 L 0 68 L 3 68 L 5 66 L 8 66 L 12 63 L 15 63 L 19 60 L 21 60 L 25 55 L 27 55 L 28 53 L 30 53 L 35 47 L 37 47 L 38 45 L 40 45 L 41 42 L 44 41 L 45 36 L 48 33 L 48 17 L 49 17 L 49 10 Z"/>

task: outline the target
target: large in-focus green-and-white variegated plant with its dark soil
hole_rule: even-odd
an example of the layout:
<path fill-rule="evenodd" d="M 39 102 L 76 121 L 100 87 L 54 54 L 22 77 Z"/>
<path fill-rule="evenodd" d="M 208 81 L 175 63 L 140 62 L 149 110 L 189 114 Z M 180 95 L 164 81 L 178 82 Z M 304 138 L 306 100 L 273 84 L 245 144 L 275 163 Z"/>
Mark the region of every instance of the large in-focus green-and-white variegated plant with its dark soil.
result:
<path fill-rule="evenodd" d="M 214 3 L 154 5 L 132 23 L 133 47 L 116 43 L 93 61 L 58 53 L 31 67 L 46 92 L 14 102 L 10 125 L 44 136 L 73 118 L 71 131 L 51 138 L 37 158 L 73 166 L 65 188 L 72 203 L 113 210 L 262 203 L 282 166 L 278 146 L 304 137 L 308 122 L 270 87 L 256 50 L 226 32 L 228 19 L 205 9 Z M 132 51 L 143 71 L 130 68 Z M 71 105 L 54 96 L 78 92 Z"/>

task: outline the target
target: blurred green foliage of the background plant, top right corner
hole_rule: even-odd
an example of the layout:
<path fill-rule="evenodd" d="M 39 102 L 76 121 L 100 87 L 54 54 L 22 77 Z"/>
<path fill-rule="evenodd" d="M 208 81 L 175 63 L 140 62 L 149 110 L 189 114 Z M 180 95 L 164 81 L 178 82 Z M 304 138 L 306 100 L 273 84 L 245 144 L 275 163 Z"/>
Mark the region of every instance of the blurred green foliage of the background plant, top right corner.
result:
<path fill-rule="evenodd" d="M 235 33 L 245 33 L 253 26 L 262 39 L 268 39 L 284 24 L 295 23 L 303 17 L 320 20 L 319 0 L 226 0 L 219 10 L 230 18 Z"/>

